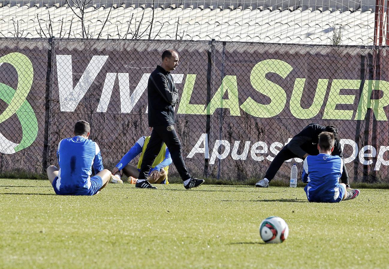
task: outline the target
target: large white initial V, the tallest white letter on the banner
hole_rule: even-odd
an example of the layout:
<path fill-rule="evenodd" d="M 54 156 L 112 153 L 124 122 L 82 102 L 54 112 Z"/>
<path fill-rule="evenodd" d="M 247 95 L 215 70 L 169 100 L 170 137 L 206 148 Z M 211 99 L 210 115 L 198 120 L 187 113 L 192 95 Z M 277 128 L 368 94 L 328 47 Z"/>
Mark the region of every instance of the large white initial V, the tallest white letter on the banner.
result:
<path fill-rule="evenodd" d="M 73 88 L 72 56 L 56 55 L 61 111 L 73 112 L 75 110 L 107 59 L 108 56 L 104 55 L 93 56 L 80 80 Z"/>

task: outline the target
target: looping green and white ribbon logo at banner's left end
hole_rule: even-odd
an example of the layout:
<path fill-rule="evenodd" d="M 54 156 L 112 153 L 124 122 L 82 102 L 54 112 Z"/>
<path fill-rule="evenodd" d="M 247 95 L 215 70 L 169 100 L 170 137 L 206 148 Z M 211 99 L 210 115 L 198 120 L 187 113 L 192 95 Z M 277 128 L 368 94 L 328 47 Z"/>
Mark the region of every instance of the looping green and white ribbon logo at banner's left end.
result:
<path fill-rule="evenodd" d="M 19 144 L 5 138 L 0 131 L 0 152 L 13 154 L 30 146 L 38 135 L 37 117 L 30 103 L 26 100 L 31 90 L 34 71 L 30 59 L 19 52 L 12 52 L 0 57 L 0 66 L 4 63 L 11 64 L 18 73 L 16 90 L 0 82 L 0 99 L 8 104 L 7 108 L 0 115 L 0 123 L 16 114 L 23 131 Z M 12 128 L 12 126 L 8 128 Z"/>

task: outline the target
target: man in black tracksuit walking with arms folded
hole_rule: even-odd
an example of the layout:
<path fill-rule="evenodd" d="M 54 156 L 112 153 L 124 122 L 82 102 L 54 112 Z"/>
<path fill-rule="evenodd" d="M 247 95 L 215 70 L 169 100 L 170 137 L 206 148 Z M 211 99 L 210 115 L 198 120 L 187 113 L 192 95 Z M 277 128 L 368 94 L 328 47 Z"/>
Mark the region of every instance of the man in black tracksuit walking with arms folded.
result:
<path fill-rule="evenodd" d="M 147 82 L 147 98 L 149 100 L 149 126 L 152 127 L 149 144 L 140 166 L 139 178 L 135 187 L 156 189 L 146 179 L 152 163 L 161 150 L 163 142 L 172 156 L 173 163 L 180 174 L 186 189 L 197 187 L 203 179 L 191 177 L 182 158 L 181 142 L 174 129 L 174 109 L 179 95 L 175 88 L 170 71 L 178 66 L 179 57 L 174 50 L 165 50 L 162 53 L 162 63 L 151 73 Z M 159 175 L 157 175 L 159 177 Z"/>

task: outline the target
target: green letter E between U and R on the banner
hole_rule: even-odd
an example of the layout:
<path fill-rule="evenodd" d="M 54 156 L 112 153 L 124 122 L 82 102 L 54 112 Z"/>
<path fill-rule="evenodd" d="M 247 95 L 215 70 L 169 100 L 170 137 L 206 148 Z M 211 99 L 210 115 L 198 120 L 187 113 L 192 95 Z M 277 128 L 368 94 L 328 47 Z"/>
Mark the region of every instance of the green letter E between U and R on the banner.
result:
<path fill-rule="evenodd" d="M 352 120 L 354 110 L 336 109 L 337 104 L 354 104 L 354 94 L 339 94 L 342 89 L 358 90 L 361 80 L 333 80 L 329 90 L 328 101 L 324 109 L 323 119 Z"/>

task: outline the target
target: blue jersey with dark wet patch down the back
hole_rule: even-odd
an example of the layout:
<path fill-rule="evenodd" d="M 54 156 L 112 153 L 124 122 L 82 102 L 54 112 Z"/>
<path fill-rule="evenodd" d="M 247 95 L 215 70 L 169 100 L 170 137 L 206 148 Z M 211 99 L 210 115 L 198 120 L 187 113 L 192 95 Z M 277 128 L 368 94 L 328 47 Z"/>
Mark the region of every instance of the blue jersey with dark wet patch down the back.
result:
<path fill-rule="evenodd" d="M 104 169 L 99 146 L 82 136 L 62 139 L 57 158 L 60 168 L 56 187 L 61 193 L 84 192 L 91 187 L 92 165 L 95 174 Z"/>

